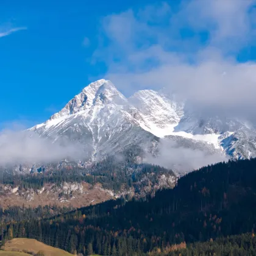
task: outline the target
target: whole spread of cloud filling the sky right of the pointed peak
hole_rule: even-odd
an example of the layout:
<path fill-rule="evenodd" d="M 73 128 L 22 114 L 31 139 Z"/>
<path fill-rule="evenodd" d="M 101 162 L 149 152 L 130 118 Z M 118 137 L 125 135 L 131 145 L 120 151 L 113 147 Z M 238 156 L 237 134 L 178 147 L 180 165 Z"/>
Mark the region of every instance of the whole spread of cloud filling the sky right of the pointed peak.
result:
<path fill-rule="evenodd" d="M 207 115 L 254 119 L 256 63 L 236 61 L 240 49 L 256 43 L 254 4 L 183 1 L 177 10 L 163 3 L 107 16 L 108 44 L 94 58 L 127 96 L 165 87 Z"/>

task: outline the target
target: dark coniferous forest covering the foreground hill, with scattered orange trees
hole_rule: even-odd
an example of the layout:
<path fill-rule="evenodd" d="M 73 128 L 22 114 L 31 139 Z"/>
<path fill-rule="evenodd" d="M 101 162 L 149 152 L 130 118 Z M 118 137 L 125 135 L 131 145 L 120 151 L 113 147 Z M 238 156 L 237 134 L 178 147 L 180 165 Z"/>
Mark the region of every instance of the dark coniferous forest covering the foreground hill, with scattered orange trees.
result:
<path fill-rule="evenodd" d="M 35 238 L 83 255 L 256 255 L 255 193 L 256 159 L 229 161 L 140 201 L 121 198 L 57 215 L 30 209 L 37 211 L 30 218 L 21 209 L 1 210 L 1 239 Z"/>

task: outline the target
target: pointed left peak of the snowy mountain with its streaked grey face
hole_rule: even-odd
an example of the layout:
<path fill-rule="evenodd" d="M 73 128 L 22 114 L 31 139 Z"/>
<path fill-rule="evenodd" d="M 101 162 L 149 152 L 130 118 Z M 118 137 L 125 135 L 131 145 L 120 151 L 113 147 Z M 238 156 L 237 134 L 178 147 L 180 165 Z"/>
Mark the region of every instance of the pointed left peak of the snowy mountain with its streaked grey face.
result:
<path fill-rule="evenodd" d="M 146 123 L 138 116 L 138 110 L 113 84 L 102 79 L 85 87 L 59 113 L 30 130 L 54 142 L 76 141 L 83 146 L 83 160 L 99 160 L 133 145 L 150 147 L 157 140 L 141 128 Z"/>

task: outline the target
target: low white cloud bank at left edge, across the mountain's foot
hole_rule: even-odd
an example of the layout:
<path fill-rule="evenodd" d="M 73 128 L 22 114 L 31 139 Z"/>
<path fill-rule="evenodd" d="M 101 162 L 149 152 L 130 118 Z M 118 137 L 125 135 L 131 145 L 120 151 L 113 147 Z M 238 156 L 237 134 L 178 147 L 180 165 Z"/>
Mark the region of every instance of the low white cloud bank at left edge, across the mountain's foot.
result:
<path fill-rule="evenodd" d="M 59 162 L 82 158 L 83 146 L 71 141 L 52 143 L 35 132 L 4 130 L 0 133 L 0 165 Z"/>

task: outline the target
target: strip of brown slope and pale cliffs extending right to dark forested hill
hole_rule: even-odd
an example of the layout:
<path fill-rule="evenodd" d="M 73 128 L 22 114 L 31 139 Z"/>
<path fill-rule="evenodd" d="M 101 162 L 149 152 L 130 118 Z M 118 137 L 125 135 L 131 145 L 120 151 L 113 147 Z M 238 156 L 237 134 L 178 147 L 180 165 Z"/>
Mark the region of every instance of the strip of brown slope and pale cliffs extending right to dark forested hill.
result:
<path fill-rule="evenodd" d="M 71 205 L 74 208 L 79 208 L 119 197 L 139 199 L 147 194 L 154 195 L 157 190 L 173 188 L 176 185 L 177 178 L 171 174 L 160 174 L 152 182 L 151 177 L 154 175 L 154 173 L 148 173 L 133 187 L 121 188 L 119 191 L 106 189 L 102 187 L 101 183 L 90 185 L 86 182 L 62 182 L 59 185 L 45 183 L 39 189 L 24 188 L 22 185 L 0 184 L 1 207 L 5 208 L 13 205 L 20 207 Z"/>

